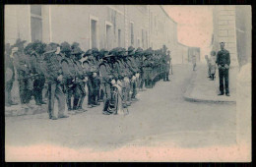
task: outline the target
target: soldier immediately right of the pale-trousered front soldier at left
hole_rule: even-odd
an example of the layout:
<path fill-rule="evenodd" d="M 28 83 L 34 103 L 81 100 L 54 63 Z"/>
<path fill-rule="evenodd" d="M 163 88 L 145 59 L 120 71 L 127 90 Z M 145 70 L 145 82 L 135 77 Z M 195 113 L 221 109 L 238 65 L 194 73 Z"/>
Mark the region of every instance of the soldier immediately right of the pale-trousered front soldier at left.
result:
<path fill-rule="evenodd" d="M 75 92 L 75 79 L 76 79 L 76 68 L 75 63 L 71 59 L 71 46 L 68 42 L 63 42 L 60 44 L 60 54 L 64 57 L 61 60 L 61 66 L 64 78 L 64 93 L 66 93 L 66 100 L 68 111 L 70 114 L 75 114 L 72 112 L 73 107 L 71 106 L 71 97 Z"/>

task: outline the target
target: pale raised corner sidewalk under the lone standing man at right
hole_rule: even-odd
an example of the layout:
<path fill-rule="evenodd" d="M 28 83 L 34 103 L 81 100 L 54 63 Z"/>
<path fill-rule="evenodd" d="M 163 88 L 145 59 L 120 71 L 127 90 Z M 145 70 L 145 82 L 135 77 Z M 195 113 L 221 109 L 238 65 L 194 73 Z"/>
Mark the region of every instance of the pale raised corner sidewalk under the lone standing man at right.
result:
<path fill-rule="evenodd" d="M 192 70 L 192 67 L 191 67 Z M 208 77 L 207 65 L 197 65 L 196 71 L 191 76 L 191 81 L 184 93 L 187 101 L 210 102 L 210 103 L 236 103 L 236 74 L 238 68 L 229 69 L 229 91 L 230 96 L 219 96 L 219 72 L 217 70 L 215 81 Z"/>

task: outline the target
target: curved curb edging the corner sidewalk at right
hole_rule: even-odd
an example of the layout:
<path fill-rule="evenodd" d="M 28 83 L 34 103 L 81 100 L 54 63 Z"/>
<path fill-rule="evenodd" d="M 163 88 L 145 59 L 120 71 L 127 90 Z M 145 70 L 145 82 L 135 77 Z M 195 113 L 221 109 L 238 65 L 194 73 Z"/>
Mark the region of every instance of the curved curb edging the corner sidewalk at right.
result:
<path fill-rule="evenodd" d="M 197 69 L 198 71 L 199 69 Z M 195 79 L 197 76 L 197 72 L 193 73 L 190 78 L 190 84 L 187 86 L 185 93 L 183 94 L 183 98 L 186 101 L 189 102 L 204 102 L 204 103 L 218 103 L 218 104 L 236 104 L 236 101 L 224 101 L 224 100 L 212 100 L 212 99 L 203 99 L 203 98 L 197 98 L 197 97 L 192 97 L 190 94 L 194 89 L 195 85 Z"/>

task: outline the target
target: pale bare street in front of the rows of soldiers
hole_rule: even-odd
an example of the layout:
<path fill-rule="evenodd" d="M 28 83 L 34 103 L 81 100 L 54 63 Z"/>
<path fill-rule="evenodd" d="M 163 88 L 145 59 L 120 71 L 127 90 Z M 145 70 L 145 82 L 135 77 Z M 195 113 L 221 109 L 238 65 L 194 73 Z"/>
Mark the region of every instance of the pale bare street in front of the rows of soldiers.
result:
<path fill-rule="evenodd" d="M 188 102 L 183 98 L 191 65 L 173 66 L 171 82 L 140 91 L 129 115 L 102 115 L 102 104 L 86 113 L 49 120 L 46 113 L 6 117 L 5 144 L 54 144 L 114 150 L 124 145 L 197 148 L 235 144 L 235 104 Z M 208 80 L 208 79 L 206 79 Z"/>

